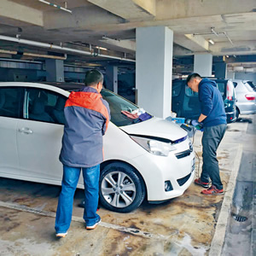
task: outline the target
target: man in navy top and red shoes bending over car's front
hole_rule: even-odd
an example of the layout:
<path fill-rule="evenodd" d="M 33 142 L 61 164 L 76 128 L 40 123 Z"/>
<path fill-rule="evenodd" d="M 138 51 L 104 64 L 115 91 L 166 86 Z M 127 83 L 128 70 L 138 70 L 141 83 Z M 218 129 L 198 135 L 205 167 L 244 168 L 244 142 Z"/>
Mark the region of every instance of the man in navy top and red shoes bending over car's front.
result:
<path fill-rule="evenodd" d="M 219 177 L 216 151 L 227 126 L 224 102 L 217 84 L 210 79 L 202 79 L 198 73 L 191 73 L 187 79 L 187 84 L 193 91 L 198 92 L 201 103 L 201 115 L 198 122 L 203 124 L 204 129 L 201 140 L 203 166 L 201 177 L 195 179 L 195 184 L 208 188 L 210 178 L 212 186 L 202 190 L 201 193 L 204 195 L 222 195 L 224 190 Z"/>

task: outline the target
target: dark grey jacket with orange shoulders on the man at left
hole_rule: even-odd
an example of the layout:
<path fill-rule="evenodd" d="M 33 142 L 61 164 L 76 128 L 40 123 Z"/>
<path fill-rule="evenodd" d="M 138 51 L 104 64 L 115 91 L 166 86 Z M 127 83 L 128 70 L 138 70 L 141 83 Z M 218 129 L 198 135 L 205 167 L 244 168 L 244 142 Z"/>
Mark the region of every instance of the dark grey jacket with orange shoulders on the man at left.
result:
<path fill-rule="evenodd" d="M 91 167 L 103 161 L 102 136 L 108 129 L 108 102 L 92 87 L 72 91 L 65 108 L 60 160 L 71 167 Z"/>

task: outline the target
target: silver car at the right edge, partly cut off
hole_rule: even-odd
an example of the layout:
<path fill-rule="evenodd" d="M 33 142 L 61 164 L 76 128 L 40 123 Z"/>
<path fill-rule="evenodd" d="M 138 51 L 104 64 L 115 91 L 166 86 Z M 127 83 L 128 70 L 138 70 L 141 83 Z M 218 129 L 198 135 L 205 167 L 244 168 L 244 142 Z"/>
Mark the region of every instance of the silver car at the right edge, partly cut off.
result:
<path fill-rule="evenodd" d="M 239 114 L 256 113 L 256 92 L 244 80 L 232 80 L 236 90 L 236 118 Z"/>

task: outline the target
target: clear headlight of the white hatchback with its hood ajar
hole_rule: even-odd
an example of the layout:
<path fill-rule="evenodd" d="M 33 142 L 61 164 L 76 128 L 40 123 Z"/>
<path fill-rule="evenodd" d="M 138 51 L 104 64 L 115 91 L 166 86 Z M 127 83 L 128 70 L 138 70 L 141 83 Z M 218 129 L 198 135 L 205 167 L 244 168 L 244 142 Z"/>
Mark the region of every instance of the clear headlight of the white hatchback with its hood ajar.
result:
<path fill-rule="evenodd" d="M 170 151 L 177 149 L 172 143 L 164 143 L 147 137 L 130 137 L 151 154 L 168 156 Z"/>

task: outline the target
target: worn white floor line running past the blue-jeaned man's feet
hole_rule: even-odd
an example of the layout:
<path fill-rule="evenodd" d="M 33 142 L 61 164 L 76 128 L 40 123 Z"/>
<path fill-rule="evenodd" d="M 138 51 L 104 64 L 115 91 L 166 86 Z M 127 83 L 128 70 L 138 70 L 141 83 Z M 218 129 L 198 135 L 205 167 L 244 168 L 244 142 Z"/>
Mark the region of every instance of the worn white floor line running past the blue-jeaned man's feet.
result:
<path fill-rule="evenodd" d="M 55 218 L 55 212 L 48 212 L 48 211 L 43 211 L 43 210 L 40 210 L 40 209 L 37 209 L 37 208 L 20 206 L 19 204 L 15 204 L 15 203 L 12 203 L 12 202 L 0 201 L 0 207 L 14 209 L 14 210 L 22 211 L 22 212 L 31 212 L 31 213 L 34 213 L 34 214 L 39 214 L 39 215 L 43 215 L 43 216 L 46 216 L 46 217 Z M 84 219 L 80 218 L 80 217 L 73 216 L 72 220 L 76 221 L 76 222 L 79 222 L 79 223 L 84 223 Z M 107 222 L 101 222 L 99 224 L 99 226 L 102 226 L 102 227 L 107 228 L 107 229 L 119 230 L 121 232 L 130 233 L 134 236 L 143 236 L 145 238 L 151 238 L 151 239 L 154 239 L 154 240 L 164 240 L 164 241 L 166 241 L 170 238 L 170 236 L 163 236 L 163 235 L 160 235 L 160 234 L 153 234 L 153 233 L 150 233 L 150 232 L 147 232 L 147 231 L 133 229 L 133 228 L 127 228 L 127 227 L 117 225 L 117 224 L 109 224 Z"/>

